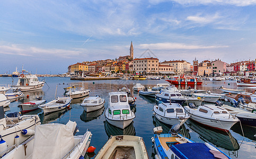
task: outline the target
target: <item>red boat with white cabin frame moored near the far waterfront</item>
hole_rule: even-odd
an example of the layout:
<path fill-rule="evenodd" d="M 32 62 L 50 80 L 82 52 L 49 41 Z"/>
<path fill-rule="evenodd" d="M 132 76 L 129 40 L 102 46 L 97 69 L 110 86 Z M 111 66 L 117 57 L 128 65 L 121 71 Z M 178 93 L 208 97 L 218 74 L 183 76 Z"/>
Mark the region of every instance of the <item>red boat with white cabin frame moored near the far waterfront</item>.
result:
<path fill-rule="evenodd" d="M 175 85 L 202 85 L 202 82 L 199 81 L 198 78 L 184 77 L 184 75 L 181 75 L 180 77 L 173 77 L 166 81 Z"/>

